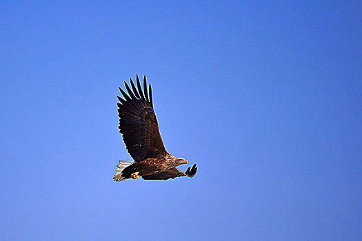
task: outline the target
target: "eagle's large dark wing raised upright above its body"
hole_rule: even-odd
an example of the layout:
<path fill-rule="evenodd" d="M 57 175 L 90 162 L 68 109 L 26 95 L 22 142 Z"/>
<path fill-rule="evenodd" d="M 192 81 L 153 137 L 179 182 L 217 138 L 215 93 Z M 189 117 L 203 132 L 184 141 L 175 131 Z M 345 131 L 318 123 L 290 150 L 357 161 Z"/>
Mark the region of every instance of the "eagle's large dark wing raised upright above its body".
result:
<path fill-rule="evenodd" d="M 117 96 L 121 102 L 117 105 L 119 132 L 123 136 L 125 147 L 135 161 L 140 161 L 150 157 L 156 158 L 159 155 L 164 156 L 167 151 L 163 145 L 159 124 L 153 111 L 151 85 L 148 85 L 147 90 L 147 83 L 143 76 L 142 91 L 138 76 L 136 76 L 136 81 L 137 88 L 130 78 L 133 92 L 125 82 L 128 94 L 119 88 L 125 99 Z"/>

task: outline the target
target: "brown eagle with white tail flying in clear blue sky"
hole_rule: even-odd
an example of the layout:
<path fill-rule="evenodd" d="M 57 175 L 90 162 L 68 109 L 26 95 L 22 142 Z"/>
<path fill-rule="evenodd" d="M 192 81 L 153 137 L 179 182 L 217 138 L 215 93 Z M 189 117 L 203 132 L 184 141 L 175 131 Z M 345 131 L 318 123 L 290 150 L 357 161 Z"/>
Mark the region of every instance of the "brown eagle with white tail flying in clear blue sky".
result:
<path fill-rule="evenodd" d="M 117 96 L 119 132 L 128 153 L 134 161 L 119 160 L 113 180 L 116 182 L 126 179 L 168 180 L 179 176 L 192 178 L 197 171 L 196 164 L 183 172 L 176 167 L 188 164 L 188 160 L 174 157 L 166 151 L 159 132 L 159 124 L 154 114 L 152 89 L 143 76 L 143 90 L 136 75 L 134 85 L 130 78 L 130 86 L 124 81 L 125 93 L 119 87 L 123 98 Z M 132 90 L 131 90 L 132 88 Z"/>

